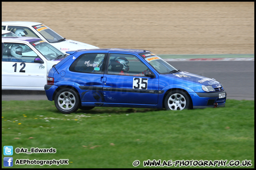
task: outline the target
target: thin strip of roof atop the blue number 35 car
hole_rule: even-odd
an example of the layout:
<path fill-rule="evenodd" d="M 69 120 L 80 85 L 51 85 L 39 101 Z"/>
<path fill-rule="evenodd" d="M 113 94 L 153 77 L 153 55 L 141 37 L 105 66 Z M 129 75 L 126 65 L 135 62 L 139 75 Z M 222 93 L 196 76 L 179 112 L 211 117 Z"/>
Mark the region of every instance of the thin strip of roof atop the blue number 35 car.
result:
<path fill-rule="evenodd" d="M 88 49 L 88 50 L 75 50 L 75 51 L 66 51 L 66 53 L 68 53 L 68 54 L 73 54 L 73 53 L 75 53 L 75 52 L 82 52 L 82 51 L 87 51 L 87 52 L 89 52 L 89 51 L 91 51 L 91 52 L 93 52 L 93 51 L 118 51 L 118 52 L 134 52 L 134 53 L 142 53 L 142 52 L 150 52 L 150 51 L 148 51 L 148 50 L 138 50 L 138 49 Z"/>

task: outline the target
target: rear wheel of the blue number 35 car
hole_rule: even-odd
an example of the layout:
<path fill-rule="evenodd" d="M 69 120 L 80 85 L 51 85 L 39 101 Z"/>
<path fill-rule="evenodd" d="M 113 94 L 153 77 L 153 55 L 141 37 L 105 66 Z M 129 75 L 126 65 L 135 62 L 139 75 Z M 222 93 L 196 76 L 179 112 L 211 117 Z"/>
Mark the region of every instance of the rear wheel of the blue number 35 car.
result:
<path fill-rule="evenodd" d="M 74 90 L 61 89 L 54 98 L 54 104 L 60 112 L 68 114 L 77 111 L 81 103 Z"/>

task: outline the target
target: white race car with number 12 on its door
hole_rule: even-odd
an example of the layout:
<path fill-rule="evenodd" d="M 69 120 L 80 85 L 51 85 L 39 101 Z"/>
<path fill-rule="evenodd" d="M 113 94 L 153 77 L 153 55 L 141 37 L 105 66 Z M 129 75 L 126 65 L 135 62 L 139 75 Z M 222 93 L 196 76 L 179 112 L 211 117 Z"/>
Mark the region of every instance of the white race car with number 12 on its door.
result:
<path fill-rule="evenodd" d="M 67 55 L 34 37 L 2 37 L 2 90 L 44 90 L 47 74 Z"/>

